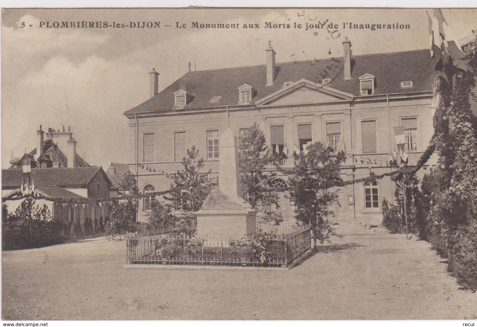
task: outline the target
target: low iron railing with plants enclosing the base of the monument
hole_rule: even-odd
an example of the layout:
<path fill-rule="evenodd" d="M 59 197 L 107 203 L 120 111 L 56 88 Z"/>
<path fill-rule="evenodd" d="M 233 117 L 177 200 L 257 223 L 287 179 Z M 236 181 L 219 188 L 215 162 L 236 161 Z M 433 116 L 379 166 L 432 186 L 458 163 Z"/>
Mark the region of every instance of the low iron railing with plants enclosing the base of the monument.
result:
<path fill-rule="evenodd" d="M 311 250 L 310 226 L 296 228 L 288 234 L 256 234 L 244 238 L 160 232 L 128 235 L 127 263 L 288 267 Z"/>

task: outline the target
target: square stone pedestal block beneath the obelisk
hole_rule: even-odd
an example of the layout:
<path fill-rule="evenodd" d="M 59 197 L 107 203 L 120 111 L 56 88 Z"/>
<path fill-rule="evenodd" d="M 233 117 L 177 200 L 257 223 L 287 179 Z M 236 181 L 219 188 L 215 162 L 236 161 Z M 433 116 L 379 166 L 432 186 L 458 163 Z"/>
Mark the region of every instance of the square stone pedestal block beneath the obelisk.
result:
<path fill-rule="evenodd" d="M 256 210 L 200 210 L 197 216 L 197 236 L 219 238 L 242 237 L 255 233 Z M 207 238 L 207 237 L 206 237 Z"/>

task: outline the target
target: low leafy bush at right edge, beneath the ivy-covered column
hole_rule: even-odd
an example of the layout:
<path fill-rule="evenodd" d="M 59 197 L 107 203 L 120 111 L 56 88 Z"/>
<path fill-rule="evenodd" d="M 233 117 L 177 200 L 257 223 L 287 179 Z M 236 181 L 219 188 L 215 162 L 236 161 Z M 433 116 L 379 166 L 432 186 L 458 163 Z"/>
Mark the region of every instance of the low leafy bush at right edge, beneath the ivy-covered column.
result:
<path fill-rule="evenodd" d="M 457 281 L 467 289 L 477 289 L 477 225 L 462 226 L 452 237 L 450 252 L 454 256 Z"/>

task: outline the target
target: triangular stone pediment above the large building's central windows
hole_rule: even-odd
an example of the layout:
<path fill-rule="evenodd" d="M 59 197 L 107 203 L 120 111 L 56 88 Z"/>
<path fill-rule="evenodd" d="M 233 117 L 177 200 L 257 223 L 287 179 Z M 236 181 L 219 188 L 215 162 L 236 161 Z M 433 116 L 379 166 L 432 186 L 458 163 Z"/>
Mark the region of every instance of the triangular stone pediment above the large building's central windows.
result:
<path fill-rule="evenodd" d="M 353 94 L 302 79 L 260 99 L 255 104 L 257 106 L 267 106 L 327 103 L 350 101 L 353 100 L 353 97 Z"/>

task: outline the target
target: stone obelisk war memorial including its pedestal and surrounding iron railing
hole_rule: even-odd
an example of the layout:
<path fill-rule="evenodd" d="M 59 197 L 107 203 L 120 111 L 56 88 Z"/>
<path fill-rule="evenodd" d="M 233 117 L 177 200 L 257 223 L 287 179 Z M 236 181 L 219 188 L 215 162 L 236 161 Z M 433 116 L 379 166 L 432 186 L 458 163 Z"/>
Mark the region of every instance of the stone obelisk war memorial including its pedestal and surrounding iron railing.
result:
<path fill-rule="evenodd" d="M 221 135 L 218 185 L 207 195 L 197 228 L 129 234 L 126 267 L 151 264 L 287 268 L 311 253 L 311 228 L 287 234 L 257 228 L 257 210 L 241 194 L 237 136 Z"/>

